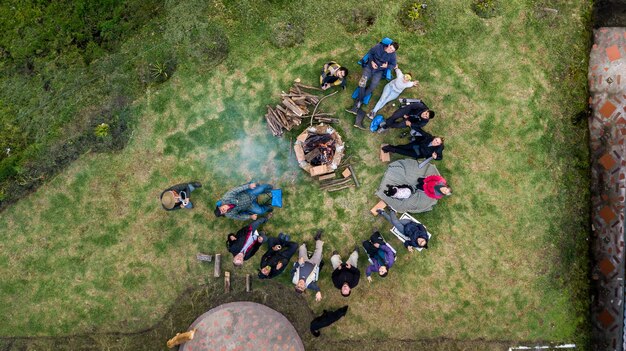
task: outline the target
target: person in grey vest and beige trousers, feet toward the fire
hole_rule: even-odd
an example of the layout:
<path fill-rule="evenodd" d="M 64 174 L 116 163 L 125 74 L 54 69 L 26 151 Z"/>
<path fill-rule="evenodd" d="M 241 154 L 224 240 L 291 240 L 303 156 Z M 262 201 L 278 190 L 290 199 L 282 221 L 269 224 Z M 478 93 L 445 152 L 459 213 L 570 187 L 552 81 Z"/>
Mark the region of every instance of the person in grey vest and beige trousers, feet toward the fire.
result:
<path fill-rule="evenodd" d="M 315 291 L 315 301 L 322 300 L 322 292 L 317 286 L 319 279 L 320 263 L 322 262 L 322 231 L 319 230 L 315 234 L 315 251 L 309 259 L 307 256 L 306 245 L 300 245 L 298 249 L 298 262 L 294 265 L 292 282 L 296 286 L 296 292 L 302 294 L 306 289 Z"/>

